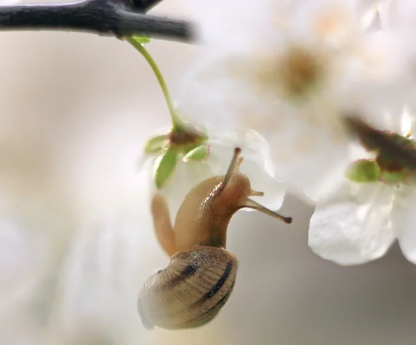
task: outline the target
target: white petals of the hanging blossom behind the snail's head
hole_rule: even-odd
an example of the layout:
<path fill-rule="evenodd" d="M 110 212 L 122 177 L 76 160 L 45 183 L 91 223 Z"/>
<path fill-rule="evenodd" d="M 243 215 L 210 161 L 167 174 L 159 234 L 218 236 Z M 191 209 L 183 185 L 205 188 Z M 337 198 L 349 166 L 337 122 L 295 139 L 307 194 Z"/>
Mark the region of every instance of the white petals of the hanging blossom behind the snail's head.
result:
<path fill-rule="evenodd" d="M 236 147 L 241 148 L 241 172 L 250 178 L 253 190 L 264 192 L 264 196 L 258 199 L 259 203 L 271 210 L 281 207 L 286 184 L 273 177 L 270 148 L 261 135 L 250 130 L 221 133 L 214 131 L 214 128 L 208 128 L 208 136 L 209 139 L 205 142 L 209 148 L 207 158 L 188 162 L 178 160 L 173 175 L 159 190 L 168 202 L 171 219 L 175 219 L 182 201 L 193 187 L 207 178 L 225 175 Z M 150 164 L 153 162 L 151 160 Z M 152 176 L 152 180 L 153 178 Z M 151 184 L 155 186 L 153 182 Z"/>

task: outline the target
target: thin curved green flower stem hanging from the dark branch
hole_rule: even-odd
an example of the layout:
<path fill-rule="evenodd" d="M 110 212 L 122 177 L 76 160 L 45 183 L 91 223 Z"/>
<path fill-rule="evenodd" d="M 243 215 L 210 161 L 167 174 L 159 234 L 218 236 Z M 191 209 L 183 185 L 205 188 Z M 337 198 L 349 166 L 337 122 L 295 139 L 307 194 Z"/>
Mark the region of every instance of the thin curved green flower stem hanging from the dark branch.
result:
<path fill-rule="evenodd" d="M 168 105 L 169 112 L 171 113 L 173 131 L 180 131 L 184 127 L 183 122 L 179 117 L 177 117 L 175 107 L 173 106 L 173 102 L 171 99 L 171 94 L 169 94 L 169 90 L 162 76 L 162 72 L 160 71 L 159 67 L 157 67 L 155 60 L 153 60 L 152 56 L 150 56 L 150 54 L 143 47 L 143 45 L 137 42 L 137 40 L 135 40 L 135 37 L 125 37 L 125 40 L 129 42 L 133 47 L 135 47 L 135 49 L 139 51 L 139 53 L 141 53 L 141 55 L 146 59 L 146 61 L 150 65 L 150 68 L 153 70 L 153 73 L 155 74 L 157 81 L 159 82 L 160 88 L 162 89 L 164 98 Z"/>

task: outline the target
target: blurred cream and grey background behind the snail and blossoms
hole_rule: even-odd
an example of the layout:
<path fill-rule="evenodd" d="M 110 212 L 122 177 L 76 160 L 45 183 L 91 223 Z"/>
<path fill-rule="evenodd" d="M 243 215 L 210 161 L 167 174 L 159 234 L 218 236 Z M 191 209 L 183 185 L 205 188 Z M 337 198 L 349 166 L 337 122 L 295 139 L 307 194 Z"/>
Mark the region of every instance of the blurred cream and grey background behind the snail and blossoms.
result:
<path fill-rule="evenodd" d="M 152 12 L 189 17 L 185 0 Z M 318 258 L 313 208 L 293 196 L 292 226 L 232 219 L 239 276 L 214 321 L 145 330 L 137 292 L 168 263 L 138 166 L 148 133 L 168 124 L 150 68 L 96 35 L 3 32 L 0 44 L 0 344 L 415 344 L 416 267 L 397 246 L 360 267 Z M 175 94 L 198 48 L 148 49 Z"/>

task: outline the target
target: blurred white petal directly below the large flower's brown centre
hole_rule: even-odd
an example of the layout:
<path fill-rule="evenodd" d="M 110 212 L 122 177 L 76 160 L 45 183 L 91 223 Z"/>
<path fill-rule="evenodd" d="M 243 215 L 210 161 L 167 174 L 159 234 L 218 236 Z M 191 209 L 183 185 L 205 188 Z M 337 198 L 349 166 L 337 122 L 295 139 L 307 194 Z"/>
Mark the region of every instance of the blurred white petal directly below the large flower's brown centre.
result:
<path fill-rule="evenodd" d="M 270 130 L 261 132 L 270 143 L 276 177 L 300 187 L 313 201 L 335 187 L 350 162 L 347 137 L 331 111 L 313 104 L 282 108 L 275 126 L 270 123 Z"/>

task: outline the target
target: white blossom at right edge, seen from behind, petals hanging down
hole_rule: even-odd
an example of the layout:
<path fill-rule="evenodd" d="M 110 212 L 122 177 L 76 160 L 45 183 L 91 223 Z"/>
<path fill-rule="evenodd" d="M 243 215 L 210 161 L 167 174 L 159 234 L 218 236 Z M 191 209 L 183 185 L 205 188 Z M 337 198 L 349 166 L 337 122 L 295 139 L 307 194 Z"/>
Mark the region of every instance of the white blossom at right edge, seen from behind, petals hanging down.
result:
<path fill-rule="evenodd" d="M 361 151 L 358 157 L 374 155 Z M 383 168 L 387 160 L 378 158 L 378 162 L 381 174 L 391 172 L 388 165 Z M 397 171 L 393 174 L 405 174 L 402 167 L 394 166 Z M 338 264 L 362 264 L 381 258 L 397 239 L 406 258 L 416 264 L 415 203 L 413 176 L 395 183 L 386 182 L 383 175 L 370 183 L 343 178 L 316 204 L 309 224 L 309 246 L 322 258 Z"/>

